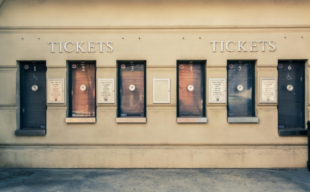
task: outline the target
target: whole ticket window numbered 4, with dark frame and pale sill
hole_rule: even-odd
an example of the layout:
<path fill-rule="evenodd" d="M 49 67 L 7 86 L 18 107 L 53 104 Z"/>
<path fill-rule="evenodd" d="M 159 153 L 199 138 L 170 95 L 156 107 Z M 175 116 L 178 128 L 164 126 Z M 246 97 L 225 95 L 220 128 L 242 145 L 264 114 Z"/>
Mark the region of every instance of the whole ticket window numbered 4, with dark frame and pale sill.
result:
<path fill-rule="evenodd" d="M 206 122 L 205 61 L 177 62 L 177 122 Z"/>

